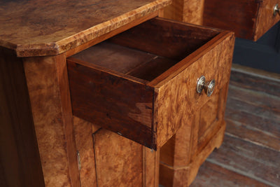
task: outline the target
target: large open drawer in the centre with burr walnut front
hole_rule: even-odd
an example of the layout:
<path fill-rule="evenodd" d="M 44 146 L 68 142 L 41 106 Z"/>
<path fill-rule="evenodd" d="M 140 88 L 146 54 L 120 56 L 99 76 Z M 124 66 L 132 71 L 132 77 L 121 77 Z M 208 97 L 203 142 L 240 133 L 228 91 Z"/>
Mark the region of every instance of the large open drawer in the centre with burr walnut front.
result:
<path fill-rule="evenodd" d="M 228 83 L 234 34 L 154 18 L 67 59 L 73 115 L 157 149 Z M 215 94 L 215 90 L 214 90 Z"/>

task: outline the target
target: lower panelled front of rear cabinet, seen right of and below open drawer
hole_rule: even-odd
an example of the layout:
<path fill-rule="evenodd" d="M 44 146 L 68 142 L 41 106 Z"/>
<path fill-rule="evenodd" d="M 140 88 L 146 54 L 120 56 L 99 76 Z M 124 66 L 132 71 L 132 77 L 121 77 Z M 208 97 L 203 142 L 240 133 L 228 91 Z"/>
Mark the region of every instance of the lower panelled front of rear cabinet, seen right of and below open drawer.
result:
<path fill-rule="evenodd" d="M 162 146 L 160 184 L 188 186 L 200 165 L 221 146 L 225 131 L 224 111 L 228 85 L 225 85 L 191 116 L 188 123 Z"/>

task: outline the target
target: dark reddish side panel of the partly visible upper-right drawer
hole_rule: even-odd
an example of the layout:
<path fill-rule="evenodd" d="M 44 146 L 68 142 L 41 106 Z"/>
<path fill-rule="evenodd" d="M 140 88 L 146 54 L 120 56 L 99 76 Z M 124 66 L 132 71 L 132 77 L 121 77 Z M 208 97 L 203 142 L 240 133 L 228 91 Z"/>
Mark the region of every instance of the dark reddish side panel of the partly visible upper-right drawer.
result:
<path fill-rule="evenodd" d="M 253 39 L 258 3 L 255 0 L 204 0 L 203 25 L 230 30 L 244 39 Z"/>

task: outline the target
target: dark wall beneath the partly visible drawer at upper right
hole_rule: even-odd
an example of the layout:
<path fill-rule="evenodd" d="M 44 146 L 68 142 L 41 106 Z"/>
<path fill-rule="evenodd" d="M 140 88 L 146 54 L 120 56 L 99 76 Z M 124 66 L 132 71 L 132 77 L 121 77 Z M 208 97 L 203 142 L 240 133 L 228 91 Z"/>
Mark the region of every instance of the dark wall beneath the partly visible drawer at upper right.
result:
<path fill-rule="evenodd" d="M 237 38 L 232 62 L 280 74 L 280 22 L 256 42 Z"/>

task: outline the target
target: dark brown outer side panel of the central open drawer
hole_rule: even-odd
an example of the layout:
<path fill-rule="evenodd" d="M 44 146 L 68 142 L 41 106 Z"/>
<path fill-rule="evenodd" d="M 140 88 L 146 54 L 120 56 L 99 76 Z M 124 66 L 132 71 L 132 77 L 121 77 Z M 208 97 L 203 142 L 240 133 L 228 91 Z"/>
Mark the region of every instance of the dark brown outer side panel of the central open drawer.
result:
<path fill-rule="evenodd" d="M 68 60 L 73 115 L 153 148 L 153 88 Z"/>

